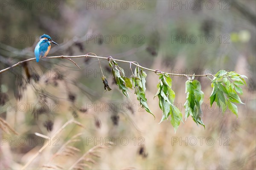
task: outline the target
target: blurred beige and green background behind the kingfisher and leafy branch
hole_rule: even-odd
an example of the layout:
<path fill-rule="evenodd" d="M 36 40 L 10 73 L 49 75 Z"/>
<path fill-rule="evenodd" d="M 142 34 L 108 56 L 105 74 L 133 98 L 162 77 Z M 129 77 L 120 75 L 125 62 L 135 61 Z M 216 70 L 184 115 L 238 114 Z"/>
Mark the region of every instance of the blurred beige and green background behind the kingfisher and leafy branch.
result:
<path fill-rule="evenodd" d="M 254 0 L 1 0 L 1 70 L 34 57 L 48 34 L 59 44 L 48 56 L 95 53 L 169 73 L 225 69 L 248 80 L 237 118 L 210 108 L 210 79 L 196 78 L 206 128 L 189 117 L 175 133 L 169 121 L 158 124 L 154 72 L 146 71 L 145 95 L 156 119 L 133 90 L 128 99 L 119 91 L 107 60 L 100 63 L 111 91 L 104 90 L 97 59 L 73 59 L 81 70 L 67 59 L 27 62 L 0 75 L 0 169 L 29 160 L 25 169 L 256 169 L 255 6 Z M 118 64 L 130 77 L 129 63 Z M 186 80 L 172 77 L 183 116 Z"/>

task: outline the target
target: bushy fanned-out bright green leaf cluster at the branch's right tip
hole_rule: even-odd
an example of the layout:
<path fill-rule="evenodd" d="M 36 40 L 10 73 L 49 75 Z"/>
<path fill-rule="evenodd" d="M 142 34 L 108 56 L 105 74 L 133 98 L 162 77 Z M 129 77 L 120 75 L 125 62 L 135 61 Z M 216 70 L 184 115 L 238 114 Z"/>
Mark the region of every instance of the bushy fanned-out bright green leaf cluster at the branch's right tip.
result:
<path fill-rule="evenodd" d="M 239 75 L 234 71 L 227 72 L 225 70 L 218 71 L 215 74 L 214 79 L 212 79 L 212 94 L 210 96 L 210 104 L 212 106 L 213 102 L 221 108 L 224 112 L 229 108 L 237 116 L 237 106 L 235 103 L 241 103 L 239 94 L 243 94 L 241 85 L 246 85 L 244 75 Z"/>

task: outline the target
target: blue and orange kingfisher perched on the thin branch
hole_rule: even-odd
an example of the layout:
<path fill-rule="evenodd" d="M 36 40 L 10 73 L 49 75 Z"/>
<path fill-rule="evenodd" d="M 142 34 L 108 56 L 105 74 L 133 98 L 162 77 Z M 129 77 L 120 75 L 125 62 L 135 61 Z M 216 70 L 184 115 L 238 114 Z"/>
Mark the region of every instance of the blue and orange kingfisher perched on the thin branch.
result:
<path fill-rule="evenodd" d="M 56 42 L 52 41 L 52 38 L 44 34 L 41 36 L 41 40 L 38 42 L 38 44 L 35 46 L 35 58 L 36 62 L 39 62 L 39 59 L 41 57 L 46 57 L 51 49 L 51 42 L 53 44 L 58 45 Z"/>

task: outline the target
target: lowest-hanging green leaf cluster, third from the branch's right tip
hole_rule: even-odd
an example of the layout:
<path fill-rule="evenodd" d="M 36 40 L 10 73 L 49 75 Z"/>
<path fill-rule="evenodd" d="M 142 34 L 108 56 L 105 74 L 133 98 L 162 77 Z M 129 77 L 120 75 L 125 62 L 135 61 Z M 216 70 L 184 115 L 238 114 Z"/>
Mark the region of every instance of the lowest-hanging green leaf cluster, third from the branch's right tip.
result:
<path fill-rule="evenodd" d="M 157 85 L 158 91 L 155 96 L 158 96 L 159 99 L 159 107 L 163 111 L 162 120 L 168 119 L 171 116 L 171 123 L 175 129 L 180 125 L 180 121 L 182 121 L 182 114 L 180 110 L 173 104 L 175 99 L 175 93 L 172 90 L 172 79 L 168 74 L 159 74 L 159 83 Z"/>

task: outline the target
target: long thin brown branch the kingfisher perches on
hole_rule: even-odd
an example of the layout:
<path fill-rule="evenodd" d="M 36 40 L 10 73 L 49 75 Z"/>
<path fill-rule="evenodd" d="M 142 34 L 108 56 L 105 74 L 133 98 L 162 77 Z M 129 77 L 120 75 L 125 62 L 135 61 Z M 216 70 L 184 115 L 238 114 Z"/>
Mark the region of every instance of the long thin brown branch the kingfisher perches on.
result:
<path fill-rule="evenodd" d="M 88 54 L 93 54 L 93 53 L 88 53 Z M 110 57 L 99 57 L 99 56 L 95 56 L 95 55 L 88 55 L 88 54 L 85 54 L 85 55 L 80 55 L 80 56 L 52 56 L 52 57 L 45 57 L 47 59 L 55 59 L 55 58 L 64 58 L 64 59 L 70 59 L 71 58 L 83 58 L 83 57 L 90 57 L 90 58 L 97 58 L 97 59 L 106 59 L 106 60 L 109 60 Z M 112 57 L 111 57 L 112 58 Z M 35 60 L 35 58 L 31 58 L 31 59 L 26 59 L 24 61 L 20 61 L 18 63 L 16 63 L 15 65 L 12 65 L 11 67 L 8 67 L 8 68 L 5 68 L 3 70 L 0 71 L 0 74 L 5 72 L 5 71 L 8 71 L 10 70 L 11 68 L 14 68 L 20 64 L 22 64 L 23 62 L 29 62 L 29 61 L 33 61 Z M 188 74 L 173 74 L 173 73 L 166 73 L 166 72 L 161 72 L 159 70 L 153 70 L 153 69 L 150 69 L 150 68 L 145 68 L 139 64 L 136 64 L 134 62 L 131 62 L 131 61 L 125 61 L 125 60 L 121 60 L 121 59 L 113 59 L 115 61 L 118 61 L 118 62 L 126 62 L 126 63 L 129 63 L 129 64 L 133 64 L 133 65 L 136 65 L 137 67 L 140 67 L 140 68 L 143 68 L 145 70 L 148 70 L 148 71 L 153 71 L 154 73 L 162 73 L 162 74 L 169 74 L 169 75 L 172 75 L 172 76 L 184 76 L 184 77 L 192 77 L 192 76 L 195 76 L 195 77 L 208 77 L 208 76 L 214 76 L 212 74 L 199 74 L 199 75 L 188 75 Z M 71 60 L 72 61 L 72 60 Z M 78 66 L 78 65 L 77 65 Z"/>

